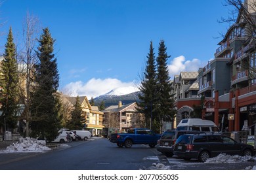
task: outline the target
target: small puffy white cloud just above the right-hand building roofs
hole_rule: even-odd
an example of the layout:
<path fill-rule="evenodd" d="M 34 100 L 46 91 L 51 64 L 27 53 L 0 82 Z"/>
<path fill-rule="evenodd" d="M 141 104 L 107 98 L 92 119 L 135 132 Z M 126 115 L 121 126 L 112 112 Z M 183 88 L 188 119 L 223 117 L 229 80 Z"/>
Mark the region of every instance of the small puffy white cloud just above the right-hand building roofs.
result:
<path fill-rule="evenodd" d="M 184 56 L 174 58 L 170 65 L 168 65 L 169 75 L 179 75 L 181 71 L 198 71 L 202 67 L 202 63 L 199 59 L 186 60 Z"/>

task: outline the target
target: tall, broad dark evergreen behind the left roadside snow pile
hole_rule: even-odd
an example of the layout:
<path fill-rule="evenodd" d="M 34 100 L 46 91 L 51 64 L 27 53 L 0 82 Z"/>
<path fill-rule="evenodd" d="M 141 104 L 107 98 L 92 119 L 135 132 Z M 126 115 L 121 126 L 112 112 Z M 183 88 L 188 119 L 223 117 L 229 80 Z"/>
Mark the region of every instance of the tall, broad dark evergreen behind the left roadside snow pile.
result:
<path fill-rule="evenodd" d="M 57 95 L 59 75 L 54 58 L 54 39 L 48 28 L 43 29 L 37 47 L 39 63 L 35 65 L 35 88 L 32 93 L 32 137 L 53 141 L 60 128 L 60 98 Z"/>

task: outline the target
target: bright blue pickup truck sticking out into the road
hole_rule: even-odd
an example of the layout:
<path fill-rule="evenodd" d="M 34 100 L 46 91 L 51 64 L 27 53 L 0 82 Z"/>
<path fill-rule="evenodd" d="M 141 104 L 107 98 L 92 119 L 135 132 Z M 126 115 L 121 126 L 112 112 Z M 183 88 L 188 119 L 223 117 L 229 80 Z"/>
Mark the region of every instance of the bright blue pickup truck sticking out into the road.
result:
<path fill-rule="evenodd" d="M 148 144 L 151 148 L 156 146 L 161 135 L 154 133 L 146 128 L 128 129 L 127 133 L 113 133 L 110 142 L 116 143 L 117 146 L 131 148 L 133 144 Z"/>

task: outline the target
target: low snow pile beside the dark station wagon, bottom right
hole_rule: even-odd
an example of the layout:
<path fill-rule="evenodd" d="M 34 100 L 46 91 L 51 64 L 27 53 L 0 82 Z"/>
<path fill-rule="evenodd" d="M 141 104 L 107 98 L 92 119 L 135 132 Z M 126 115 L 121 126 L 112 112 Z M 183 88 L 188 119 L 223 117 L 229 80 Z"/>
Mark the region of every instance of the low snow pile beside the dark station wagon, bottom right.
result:
<path fill-rule="evenodd" d="M 244 161 L 256 161 L 256 158 L 251 156 L 219 154 L 219 156 L 208 158 L 205 163 L 239 163 Z"/>

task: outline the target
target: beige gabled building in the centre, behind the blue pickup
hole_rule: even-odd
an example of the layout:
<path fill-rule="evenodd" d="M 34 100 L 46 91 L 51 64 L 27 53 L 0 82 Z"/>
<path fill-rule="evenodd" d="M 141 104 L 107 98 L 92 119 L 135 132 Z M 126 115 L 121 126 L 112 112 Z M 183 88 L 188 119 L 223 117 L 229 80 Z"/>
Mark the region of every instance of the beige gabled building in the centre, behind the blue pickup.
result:
<path fill-rule="evenodd" d="M 120 131 L 126 131 L 131 127 L 144 127 L 142 115 L 137 112 L 136 103 L 123 105 L 119 101 L 118 105 L 112 105 L 105 110 L 103 125 L 106 127 L 119 128 Z"/>

